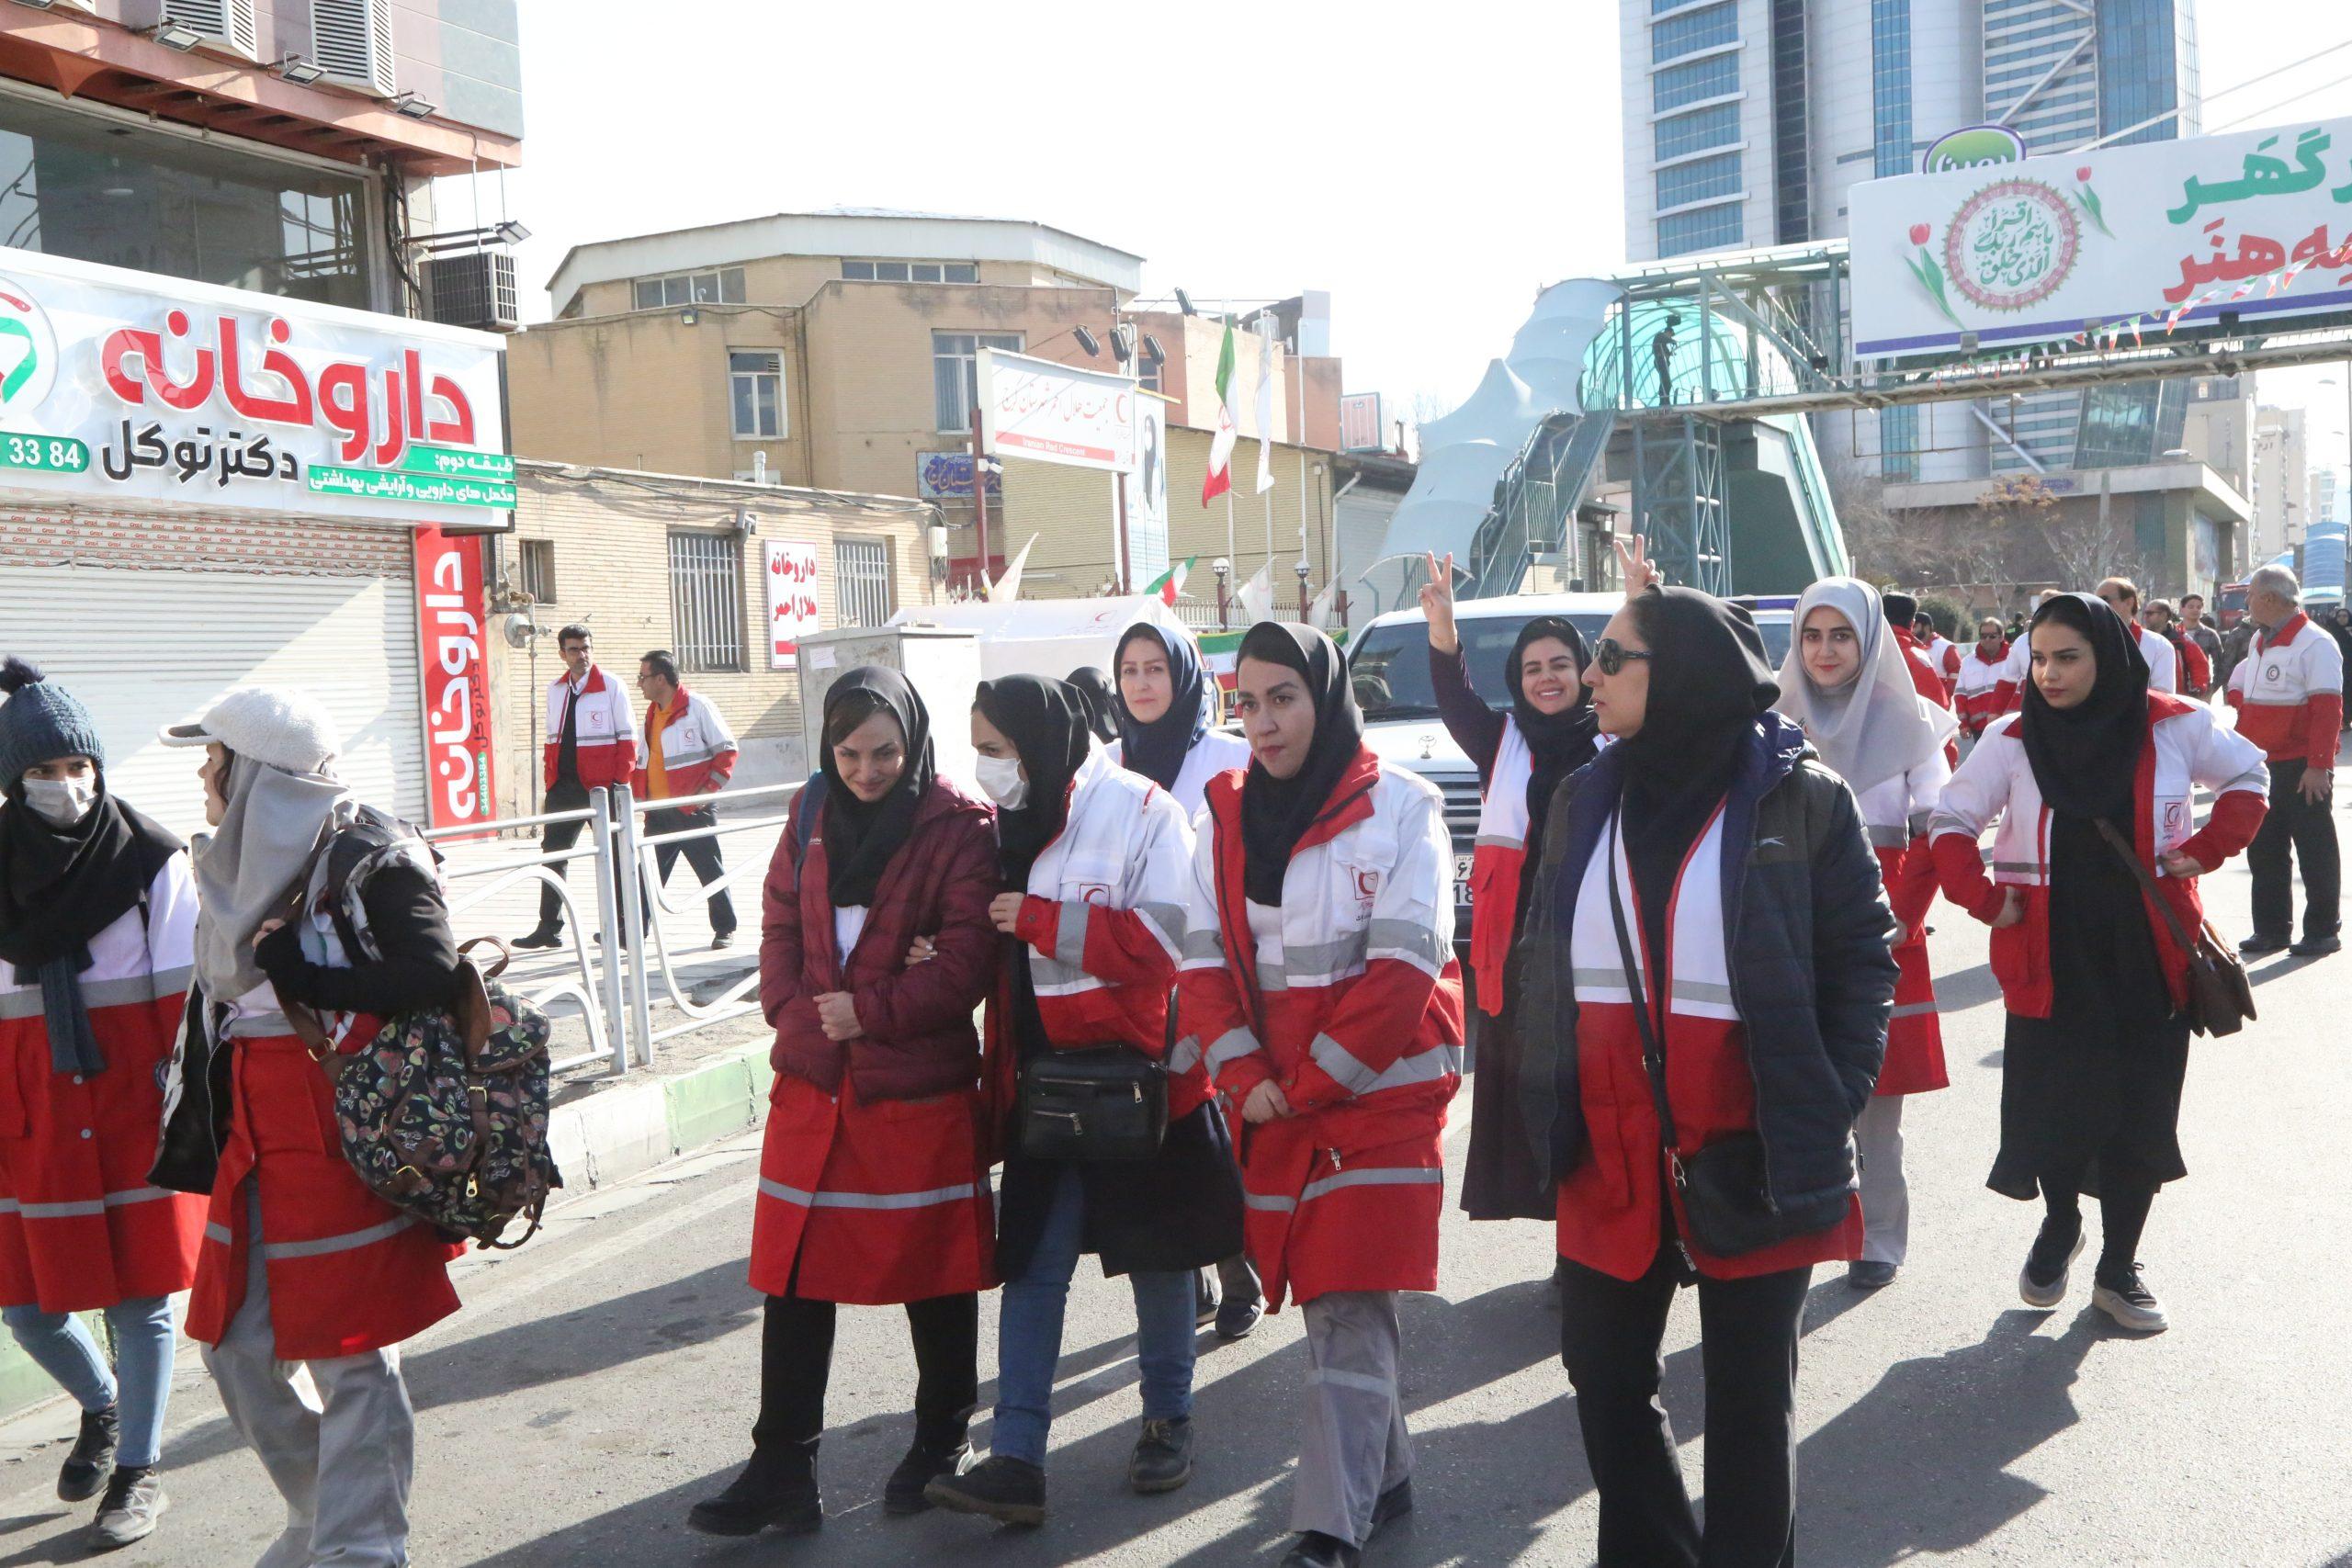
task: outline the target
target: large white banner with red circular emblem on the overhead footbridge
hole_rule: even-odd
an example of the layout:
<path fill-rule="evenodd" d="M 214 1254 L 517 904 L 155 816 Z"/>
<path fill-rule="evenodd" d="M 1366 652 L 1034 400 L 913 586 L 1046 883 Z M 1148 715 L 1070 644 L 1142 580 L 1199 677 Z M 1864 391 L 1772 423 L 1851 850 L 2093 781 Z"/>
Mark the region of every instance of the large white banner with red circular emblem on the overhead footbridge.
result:
<path fill-rule="evenodd" d="M 2352 120 L 1879 179 L 1851 207 L 1858 355 L 2352 306 Z"/>

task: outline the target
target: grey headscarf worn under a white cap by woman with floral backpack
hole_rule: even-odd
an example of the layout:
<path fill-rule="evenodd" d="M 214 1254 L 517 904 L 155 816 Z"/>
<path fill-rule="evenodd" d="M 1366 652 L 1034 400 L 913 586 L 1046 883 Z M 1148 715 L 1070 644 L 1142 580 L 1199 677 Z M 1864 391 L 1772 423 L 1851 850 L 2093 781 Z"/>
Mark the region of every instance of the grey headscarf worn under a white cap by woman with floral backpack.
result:
<path fill-rule="evenodd" d="M 289 773 L 252 757 L 228 764 L 228 813 L 195 839 L 195 978 L 212 1001 L 235 1001 L 268 980 L 254 931 L 282 912 L 350 788 L 332 771 Z"/>

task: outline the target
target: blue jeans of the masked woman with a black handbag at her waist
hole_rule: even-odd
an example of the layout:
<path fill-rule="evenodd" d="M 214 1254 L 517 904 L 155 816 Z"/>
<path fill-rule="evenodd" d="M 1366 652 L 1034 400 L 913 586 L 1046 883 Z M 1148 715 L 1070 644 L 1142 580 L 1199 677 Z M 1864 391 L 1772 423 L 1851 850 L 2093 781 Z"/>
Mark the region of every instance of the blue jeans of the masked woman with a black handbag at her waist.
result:
<path fill-rule="evenodd" d="M 1054 1425 L 1054 1363 L 1061 1361 L 1061 1312 L 1070 1302 L 1070 1274 L 1087 1220 L 1087 1192 L 1077 1168 L 1063 1166 L 1054 1182 L 1044 1232 L 1028 1272 L 1004 1281 L 997 1316 L 997 1422 L 990 1453 L 1044 1465 L 1044 1439 Z M 1136 1293 L 1136 1363 L 1143 1373 L 1143 1420 L 1192 1415 L 1192 1269 L 1138 1272 L 1127 1284 Z"/>

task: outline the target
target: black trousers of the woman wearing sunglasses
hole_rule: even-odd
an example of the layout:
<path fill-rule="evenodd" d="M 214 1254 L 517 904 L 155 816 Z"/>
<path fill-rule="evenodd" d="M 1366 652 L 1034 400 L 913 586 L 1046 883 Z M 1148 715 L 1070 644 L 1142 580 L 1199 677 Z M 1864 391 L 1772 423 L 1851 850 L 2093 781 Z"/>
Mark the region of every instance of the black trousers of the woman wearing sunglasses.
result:
<path fill-rule="evenodd" d="M 1658 1248 L 1628 1284 L 1562 1265 L 1559 1359 L 1602 1497 L 1609 1568 L 1790 1568 L 1797 1561 L 1797 1328 L 1813 1269 L 1700 1279 L 1708 1378 L 1708 1528 L 1682 1486 L 1675 1429 L 1658 1401 L 1665 1314 L 1682 1258 Z"/>

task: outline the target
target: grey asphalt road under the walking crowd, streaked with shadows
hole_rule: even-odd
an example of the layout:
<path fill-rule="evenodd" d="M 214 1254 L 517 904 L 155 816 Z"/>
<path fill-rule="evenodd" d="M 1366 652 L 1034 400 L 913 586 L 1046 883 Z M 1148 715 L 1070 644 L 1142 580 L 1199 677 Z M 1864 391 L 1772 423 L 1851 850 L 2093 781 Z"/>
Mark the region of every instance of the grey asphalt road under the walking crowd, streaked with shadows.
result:
<path fill-rule="evenodd" d="M 2209 879 L 2246 929 L 2246 875 Z M 2002 1013 L 1983 931 L 1938 907 L 1936 973 L 1952 1088 L 1907 1110 L 1912 1265 L 1875 1298 L 1816 1279 L 1799 1422 L 1799 1556 L 1877 1568 L 2164 1563 L 2352 1568 L 2352 1354 L 2336 1248 L 2352 1237 L 2345 1119 L 2352 954 L 2258 969 L 2263 1020 L 2199 1041 L 2183 1110 L 2190 1178 L 2143 1244 L 2173 1331 L 2136 1340 L 2089 1309 L 2018 1302 L 2037 1211 L 1983 1187 Z M 1463 1100 L 1468 1107 L 1468 1098 Z M 1456 1128 L 1458 1161 L 1468 1133 Z M 1240 1345 L 1202 1340 L 1192 1483 L 1124 1490 L 1136 1422 L 1131 1305 L 1082 1267 L 1056 1396 L 1051 1521 L 887 1519 L 908 1441 L 903 1316 L 842 1314 L 821 1476 L 826 1530 L 710 1542 L 687 1505 L 734 1474 L 755 1406 L 757 1298 L 743 1284 L 755 1138 L 557 1213 L 520 1253 L 468 1260 L 466 1312 L 407 1349 L 419 1403 L 419 1566 L 487 1563 L 1265 1563 L 1284 1542 L 1303 1352 L 1284 1312 Z M 2093 1215 L 2096 1225 L 2096 1215 Z M 1404 1385 L 1418 1514 L 1376 1566 L 1588 1563 L 1595 1497 L 1559 1319 L 1538 1284 L 1550 1237 L 1449 1215 L 1437 1295 L 1406 1298 Z M 983 1298 L 983 1378 L 995 1298 Z M 1705 1460 L 1698 1314 L 1668 1338 L 1668 1408 L 1691 1490 Z M 993 1385 L 983 1382 L 983 1403 Z M 52 1495 L 71 1415 L 0 1427 L 0 1568 L 75 1561 L 87 1516 Z M 985 1422 L 976 1439 L 985 1441 Z M 193 1352 L 167 1441 L 174 1509 L 120 1563 L 242 1566 L 278 1528 L 261 1469 Z"/>

